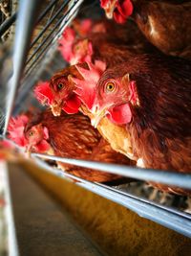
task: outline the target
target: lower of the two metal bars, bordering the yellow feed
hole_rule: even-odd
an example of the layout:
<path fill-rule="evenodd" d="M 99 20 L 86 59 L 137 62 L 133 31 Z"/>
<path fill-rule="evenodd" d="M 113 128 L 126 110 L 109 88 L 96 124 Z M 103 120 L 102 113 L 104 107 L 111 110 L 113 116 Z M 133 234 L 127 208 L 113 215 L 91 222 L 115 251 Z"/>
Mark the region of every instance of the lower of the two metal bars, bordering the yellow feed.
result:
<path fill-rule="evenodd" d="M 109 186 L 93 183 L 74 175 L 55 170 L 40 159 L 34 159 L 35 163 L 46 172 L 61 178 L 71 177 L 77 180 L 77 185 L 98 194 L 101 197 L 113 200 L 130 210 L 138 213 L 140 217 L 157 221 L 158 223 L 171 228 L 180 234 L 191 238 L 191 216 L 172 211 L 168 207 L 161 207 L 159 204 L 137 198 L 134 195 L 121 193 Z"/>

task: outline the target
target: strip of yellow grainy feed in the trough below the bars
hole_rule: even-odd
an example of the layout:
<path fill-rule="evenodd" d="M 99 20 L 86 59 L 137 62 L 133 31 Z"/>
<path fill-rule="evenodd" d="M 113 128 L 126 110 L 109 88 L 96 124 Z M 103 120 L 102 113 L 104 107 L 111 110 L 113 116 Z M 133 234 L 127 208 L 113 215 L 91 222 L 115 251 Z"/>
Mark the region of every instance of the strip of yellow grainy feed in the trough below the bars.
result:
<path fill-rule="evenodd" d="M 191 255 L 191 240 L 136 213 L 24 164 L 109 255 Z"/>

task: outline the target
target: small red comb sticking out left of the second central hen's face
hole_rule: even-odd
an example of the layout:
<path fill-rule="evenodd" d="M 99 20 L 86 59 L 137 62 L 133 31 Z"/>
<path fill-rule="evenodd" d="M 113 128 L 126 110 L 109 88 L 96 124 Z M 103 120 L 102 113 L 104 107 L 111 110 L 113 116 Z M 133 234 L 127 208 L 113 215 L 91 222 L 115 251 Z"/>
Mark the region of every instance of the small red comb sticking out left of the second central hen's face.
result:
<path fill-rule="evenodd" d="M 53 102 L 53 93 L 49 86 L 49 81 L 39 81 L 34 90 L 35 98 L 42 105 L 51 105 Z"/>

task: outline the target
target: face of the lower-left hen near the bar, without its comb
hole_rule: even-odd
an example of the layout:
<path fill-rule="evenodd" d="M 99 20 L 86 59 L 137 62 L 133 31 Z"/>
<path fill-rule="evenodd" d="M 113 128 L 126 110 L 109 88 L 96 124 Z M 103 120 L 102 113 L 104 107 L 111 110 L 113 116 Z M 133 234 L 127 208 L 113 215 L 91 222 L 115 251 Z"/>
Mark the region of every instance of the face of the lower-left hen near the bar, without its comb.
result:
<path fill-rule="evenodd" d="M 42 124 L 28 125 L 25 129 L 25 137 L 28 142 L 27 151 L 47 152 L 50 150 L 48 143 L 49 131 Z"/>

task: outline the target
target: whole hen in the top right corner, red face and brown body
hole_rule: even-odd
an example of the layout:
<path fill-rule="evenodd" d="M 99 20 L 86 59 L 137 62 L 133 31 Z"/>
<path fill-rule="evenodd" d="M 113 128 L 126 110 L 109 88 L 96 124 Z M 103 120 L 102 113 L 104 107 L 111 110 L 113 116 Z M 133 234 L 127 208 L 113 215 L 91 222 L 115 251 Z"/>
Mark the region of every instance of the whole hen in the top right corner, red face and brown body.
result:
<path fill-rule="evenodd" d="M 191 58 L 191 2 L 101 0 L 118 23 L 133 17 L 146 38 L 165 54 Z"/>

